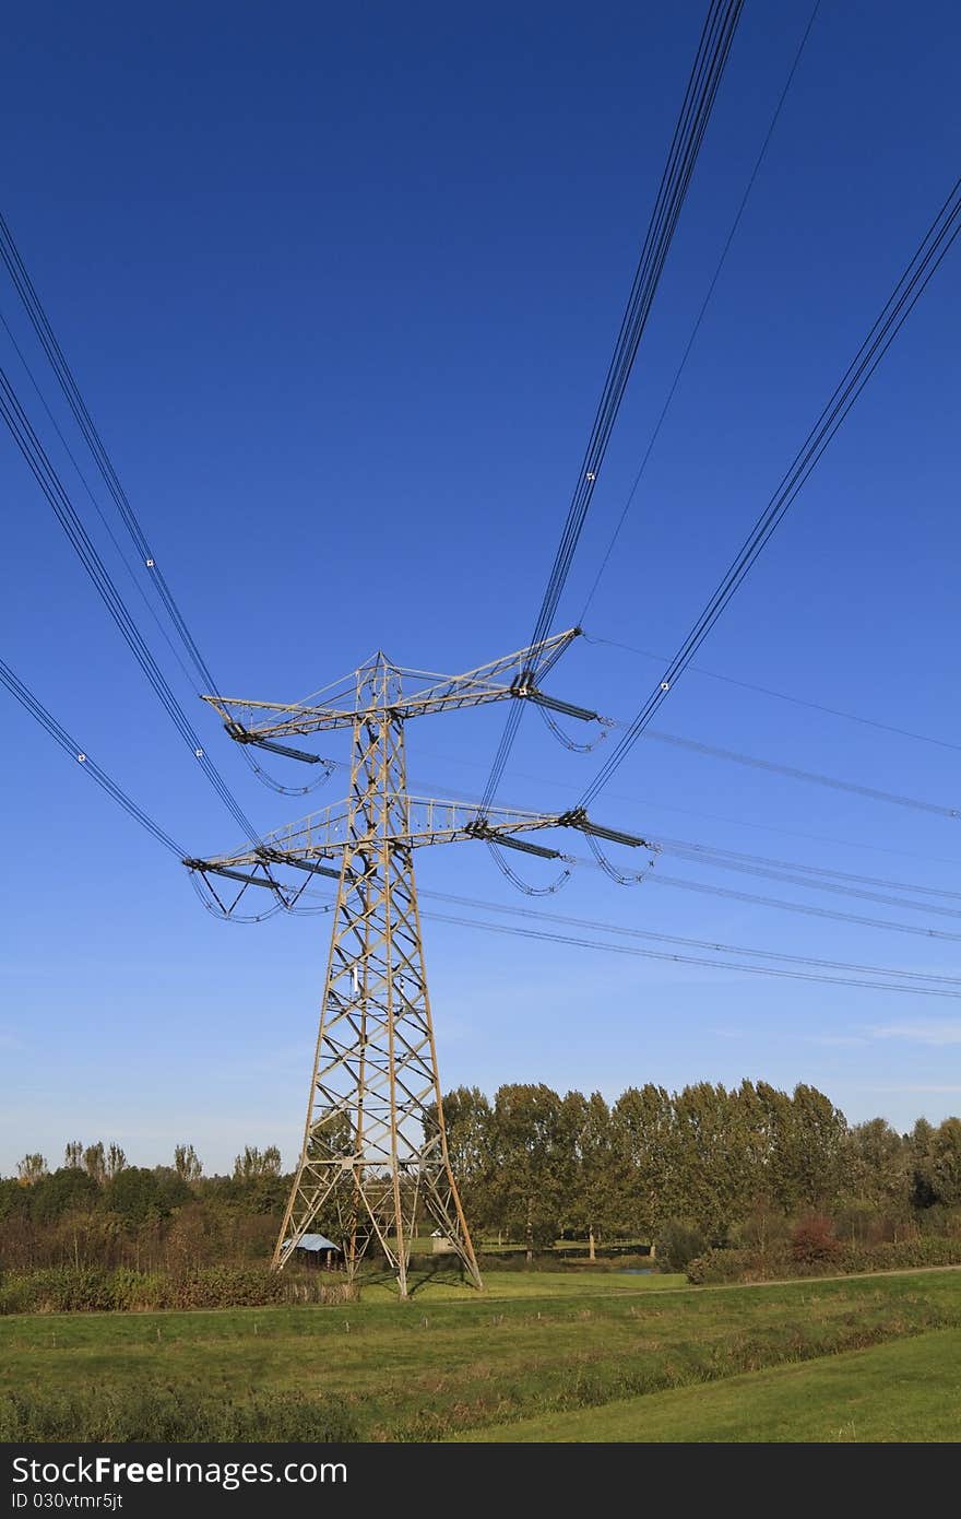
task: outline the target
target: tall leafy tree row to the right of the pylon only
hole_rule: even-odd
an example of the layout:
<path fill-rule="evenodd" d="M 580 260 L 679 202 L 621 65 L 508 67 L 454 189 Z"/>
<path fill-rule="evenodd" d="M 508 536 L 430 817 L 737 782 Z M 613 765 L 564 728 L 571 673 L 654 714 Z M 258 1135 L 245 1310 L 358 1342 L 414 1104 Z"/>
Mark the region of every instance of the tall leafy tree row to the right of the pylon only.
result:
<path fill-rule="evenodd" d="M 884 1118 L 850 1127 L 812 1086 L 647 1085 L 613 1104 L 544 1085 L 493 1100 L 458 1088 L 443 1110 L 468 1217 L 530 1250 L 560 1232 L 656 1241 L 673 1220 L 724 1240 L 806 1209 L 897 1230 L 961 1208 L 959 1120 L 922 1118 L 909 1135 Z"/>

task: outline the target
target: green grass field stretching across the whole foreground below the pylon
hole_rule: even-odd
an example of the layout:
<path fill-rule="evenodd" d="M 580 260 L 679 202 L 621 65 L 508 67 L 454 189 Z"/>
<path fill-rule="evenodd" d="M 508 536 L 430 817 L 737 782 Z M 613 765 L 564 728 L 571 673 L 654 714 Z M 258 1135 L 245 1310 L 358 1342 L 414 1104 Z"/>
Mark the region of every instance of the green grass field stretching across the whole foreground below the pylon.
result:
<path fill-rule="evenodd" d="M 433 1282 L 405 1305 L 366 1288 L 348 1308 L 0 1318 L 0 1391 L 299 1393 L 367 1440 L 955 1438 L 959 1346 L 959 1271 L 718 1290 L 501 1273 L 483 1297 Z"/>

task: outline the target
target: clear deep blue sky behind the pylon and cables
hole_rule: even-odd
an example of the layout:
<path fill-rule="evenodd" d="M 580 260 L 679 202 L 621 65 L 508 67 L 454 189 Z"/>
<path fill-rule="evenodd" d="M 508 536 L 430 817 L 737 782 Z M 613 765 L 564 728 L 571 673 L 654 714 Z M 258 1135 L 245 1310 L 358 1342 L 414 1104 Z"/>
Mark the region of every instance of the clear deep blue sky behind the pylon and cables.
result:
<path fill-rule="evenodd" d="M 703 14 L 704 0 L 100 0 L 8 20 L 3 211 L 223 690 L 290 700 L 377 646 L 455 671 L 527 641 Z M 559 626 L 597 573 L 809 14 L 809 0 L 747 0 Z M 947 0 L 823 0 L 591 633 L 670 653 L 700 611 L 955 179 L 959 43 Z M 955 248 L 700 665 L 961 744 L 959 289 Z M 8 283 L 0 310 L 67 427 Z M 112 553 L 2 333 L 0 352 Z M 6 434 L 0 491 L 5 658 L 185 849 L 237 845 Z M 257 825 L 305 810 L 258 787 L 153 633 Z M 583 643 L 551 688 L 629 718 L 656 674 Z M 206 916 L 187 873 L 5 694 L 0 711 L 0 1171 L 100 1136 L 144 1164 L 181 1139 L 208 1170 L 244 1142 L 278 1142 L 291 1164 L 328 921 Z M 490 709 L 411 726 L 417 790 L 480 794 L 501 723 Z M 961 805 L 956 749 L 694 671 L 657 726 Z M 598 763 L 531 712 L 501 797 L 569 805 Z M 342 788 L 336 775 L 317 805 Z M 595 814 L 961 890 L 959 819 L 650 740 Z M 531 905 L 480 845 L 417 863 L 424 889 Z M 961 931 L 961 899 L 932 899 L 949 904 L 934 916 L 666 858 L 656 873 Z M 598 870 L 533 905 L 961 975 L 961 940 Z M 430 921 L 425 934 L 445 1086 L 612 1098 L 748 1075 L 812 1082 L 852 1120 L 899 1127 L 961 1107 L 953 1001 Z"/>

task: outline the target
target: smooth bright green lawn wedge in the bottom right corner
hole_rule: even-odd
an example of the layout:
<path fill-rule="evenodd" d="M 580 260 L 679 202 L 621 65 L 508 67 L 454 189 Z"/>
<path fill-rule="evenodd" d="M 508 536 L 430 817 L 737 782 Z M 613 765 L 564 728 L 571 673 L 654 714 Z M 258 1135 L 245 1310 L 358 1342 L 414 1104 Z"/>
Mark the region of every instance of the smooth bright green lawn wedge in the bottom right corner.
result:
<path fill-rule="evenodd" d="M 486 1442 L 952 1442 L 961 1331 L 460 1435 Z"/>

